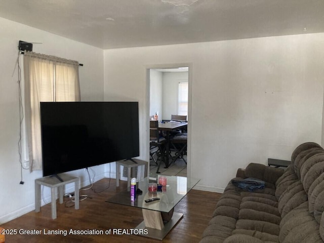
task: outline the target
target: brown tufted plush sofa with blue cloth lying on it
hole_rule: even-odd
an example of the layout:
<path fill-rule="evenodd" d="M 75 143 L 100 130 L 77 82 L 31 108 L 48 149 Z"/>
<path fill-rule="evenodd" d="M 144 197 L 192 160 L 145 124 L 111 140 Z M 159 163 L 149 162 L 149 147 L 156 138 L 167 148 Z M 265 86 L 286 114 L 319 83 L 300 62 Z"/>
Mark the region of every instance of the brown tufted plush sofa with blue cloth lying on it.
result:
<path fill-rule="evenodd" d="M 200 243 L 324 242 L 324 149 L 303 143 L 284 171 L 260 164 L 235 179 L 257 178 L 265 188 L 244 191 L 231 182 Z"/>

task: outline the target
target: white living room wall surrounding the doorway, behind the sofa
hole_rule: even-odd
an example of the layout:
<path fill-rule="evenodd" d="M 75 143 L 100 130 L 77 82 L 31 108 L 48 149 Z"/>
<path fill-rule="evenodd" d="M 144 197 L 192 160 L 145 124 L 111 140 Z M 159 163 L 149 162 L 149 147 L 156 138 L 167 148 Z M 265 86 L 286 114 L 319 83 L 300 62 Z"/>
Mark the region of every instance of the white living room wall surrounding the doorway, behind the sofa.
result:
<path fill-rule="evenodd" d="M 105 50 L 105 99 L 139 101 L 144 158 L 146 68 L 166 63 L 192 64 L 188 176 L 200 188 L 222 191 L 237 168 L 321 142 L 323 33 Z"/>

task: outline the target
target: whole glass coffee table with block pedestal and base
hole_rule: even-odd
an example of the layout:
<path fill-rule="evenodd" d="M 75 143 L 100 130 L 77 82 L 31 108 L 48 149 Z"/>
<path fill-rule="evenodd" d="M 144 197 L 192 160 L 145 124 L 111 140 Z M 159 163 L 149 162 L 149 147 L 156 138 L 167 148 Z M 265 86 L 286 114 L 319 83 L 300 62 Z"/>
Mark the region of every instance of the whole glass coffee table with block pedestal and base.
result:
<path fill-rule="evenodd" d="M 162 176 L 159 176 L 162 177 Z M 136 229 L 146 229 L 142 236 L 163 239 L 176 223 L 183 217 L 182 213 L 174 212 L 174 207 L 179 201 L 200 181 L 198 179 L 181 176 L 163 176 L 167 178 L 167 185 L 159 191 L 148 191 L 149 183 L 158 183 L 158 178 L 144 178 L 137 183 L 137 188 L 143 193 L 136 195 L 136 200 L 131 201 L 131 194 L 125 190 L 108 200 L 108 203 L 141 208 L 144 221 Z M 159 200 L 145 203 L 146 199 L 160 198 Z M 142 230 L 143 231 L 143 230 Z"/>

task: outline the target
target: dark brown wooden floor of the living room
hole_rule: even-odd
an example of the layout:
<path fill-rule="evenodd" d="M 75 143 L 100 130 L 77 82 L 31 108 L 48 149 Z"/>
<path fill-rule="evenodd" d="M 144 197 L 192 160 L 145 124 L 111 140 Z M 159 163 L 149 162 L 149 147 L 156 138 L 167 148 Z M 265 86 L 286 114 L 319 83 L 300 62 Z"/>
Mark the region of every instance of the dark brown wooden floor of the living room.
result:
<path fill-rule="evenodd" d="M 109 179 L 105 178 L 96 182 L 93 186 L 95 191 L 105 189 Z M 51 204 L 41 208 L 41 212 L 34 211 L 27 213 L 17 219 L 1 225 L 5 229 L 17 229 L 16 235 L 6 235 L 6 243 L 14 242 L 161 242 L 160 240 L 149 239 L 139 235 L 132 235 L 131 230 L 143 221 L 142 210 L 138 208 L 106 203 L 105 200 L 120 190 L 125 190 L 126 182 L 121 182 L 116 189 L 115 179 L 110 180 L 107 190 L 96 193 L 94 190 L 81 191 L 80 194 L 87 194 L 92 198 L 80 201 L 80 209 L 65 207 L 57 201 L 57 219 L 51 218 Z M 221 194 L 191 190 L 175 207 L 175 212 L 184 214 L 184 217 L 164 238 L 163 242 L 198 242 L 201 234 L 207 227 L 216 203 Z M 21 234 L 19 230 L 40 230 L 41 234 L 32 235 L 33 232 Z M 110 235 L 86 235 L 68 234 L 64 236 L 64 230 L 117 230 L 121 229 L 124 234 Z M 123 229 L 125 231 L 123 232 Z M 61 235 L 44 234 L 44 230 L 62 230 Z M 111 231 L 112 232 L 112 231 Z M 76 232 L 78 233 L 78 232 Z"/>

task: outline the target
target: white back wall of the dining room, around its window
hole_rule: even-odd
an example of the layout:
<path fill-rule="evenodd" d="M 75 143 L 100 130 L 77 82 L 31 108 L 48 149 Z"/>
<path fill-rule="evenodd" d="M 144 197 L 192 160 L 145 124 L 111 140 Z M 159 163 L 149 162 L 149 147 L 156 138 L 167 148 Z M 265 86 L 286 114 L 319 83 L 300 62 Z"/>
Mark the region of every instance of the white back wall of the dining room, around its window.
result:
<path fill-rule="evenodd" d="M 188 82 L 188 72 L 163 73 L 163 119 L 178 114 L 179 83 Z"/>

